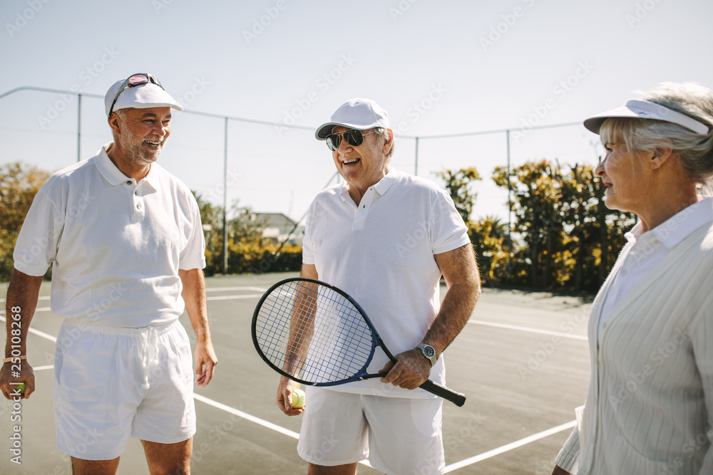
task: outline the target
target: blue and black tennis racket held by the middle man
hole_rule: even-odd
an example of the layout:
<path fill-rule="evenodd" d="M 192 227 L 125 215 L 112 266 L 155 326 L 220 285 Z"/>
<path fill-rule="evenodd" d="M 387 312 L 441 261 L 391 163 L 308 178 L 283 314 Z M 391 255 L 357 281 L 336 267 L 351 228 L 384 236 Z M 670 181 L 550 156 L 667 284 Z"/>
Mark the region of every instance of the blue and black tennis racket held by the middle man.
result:
<path fill-rule="evenodd" d="M 383 377 L 366 372 L 377 346 L 396 362 L 353 298 L 309 278 L 288 278 L 265 292 L 252 315 L 252 343 L 273 370 L 311 386 Z M 458 407 L 466 402 L 431 380 L 421 387 Z"/>

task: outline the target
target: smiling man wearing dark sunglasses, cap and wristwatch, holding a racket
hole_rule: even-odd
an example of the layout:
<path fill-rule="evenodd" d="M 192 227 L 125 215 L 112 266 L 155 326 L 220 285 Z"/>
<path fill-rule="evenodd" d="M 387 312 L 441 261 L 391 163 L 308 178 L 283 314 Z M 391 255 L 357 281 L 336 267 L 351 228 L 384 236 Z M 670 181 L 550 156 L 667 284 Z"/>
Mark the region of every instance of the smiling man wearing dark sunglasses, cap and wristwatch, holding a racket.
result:
<path fill-rule="evenodd" d="M 441 399 L 419 385 L 445 384 L 441 353 L 480 295 L 466 225 L 443 189 L 389 165 L 394 132 L 373 100 L 344 103 L 315 135 L 344 183 L 312 202 L 302 277 L 359 302 L 398 362 L 377 349 L 367 371 L 381 380 L 309 386 L 303 409 L 292 408 L 296 384 L 283 377 L 277 406 L 304 413 L 297 451 L 309 474 L 354 474 L 363 459 L 385 474 L 441 473 Z M 448 291 L 439 306 L 441 275 Z"/>

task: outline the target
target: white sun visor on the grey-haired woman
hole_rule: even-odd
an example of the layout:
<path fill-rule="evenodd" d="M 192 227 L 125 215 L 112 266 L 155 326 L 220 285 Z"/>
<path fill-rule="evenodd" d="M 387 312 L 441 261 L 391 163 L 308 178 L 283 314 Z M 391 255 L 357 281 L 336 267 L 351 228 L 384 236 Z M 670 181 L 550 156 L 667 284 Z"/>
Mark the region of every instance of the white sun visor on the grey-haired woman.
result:
<path fill-rule="evenodd" d="M 608 110 L 605 113 L 597 114 L 584 121 L 584 126 L 595 134 L 599 133 L 602 123 L 608 118 L 636 118 L 652 119 L 671 122 L 692 130 L 697 134 L 706 135 L 710 127 L 688 115 L 679 113 L 677 110 L 667 108 L 663 105 L 652 103 L 650 100 L 630 100 L 620 108 Z"/>

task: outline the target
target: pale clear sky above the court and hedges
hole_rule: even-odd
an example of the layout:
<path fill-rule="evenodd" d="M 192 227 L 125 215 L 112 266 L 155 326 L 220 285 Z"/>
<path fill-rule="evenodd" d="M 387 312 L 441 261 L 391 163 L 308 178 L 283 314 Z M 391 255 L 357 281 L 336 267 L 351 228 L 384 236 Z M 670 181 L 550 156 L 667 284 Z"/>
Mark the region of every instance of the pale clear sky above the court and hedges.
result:
<path fill-rule="evenodd" d="M 150 72 L 187 110 L 317 127 L 349 98 L 389 111 L 393 164 L 415 172 L 409 137 L 511 129 L 511 160 L 595 163 L 580 122 L 665 80 L 711 87 L 706 0 L 4 0 L 0 94 L 21 86 L 103 95 Z M 101 100 L 83 98 L 80 155 L 111 140 Z M 0 99 L 0 162 L 76 161 L 76 98 Z M 161 165 L 222 203 L 225 124 L 176 114 Z M 228 200 L 299 218 L 334 174 L 310 130 L 228 124 Z M 492 184 L 504 134 L 419 140 L 418 174 L 475 166 L 475 216 L 506 216 Z"/>

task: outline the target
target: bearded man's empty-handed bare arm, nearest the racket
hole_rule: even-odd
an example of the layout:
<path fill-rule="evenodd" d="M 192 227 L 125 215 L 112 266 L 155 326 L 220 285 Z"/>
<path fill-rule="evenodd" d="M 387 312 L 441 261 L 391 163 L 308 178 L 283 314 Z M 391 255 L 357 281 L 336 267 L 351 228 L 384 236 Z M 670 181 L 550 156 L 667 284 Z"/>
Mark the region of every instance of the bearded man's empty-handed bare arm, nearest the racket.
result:
<path fill-rule="evenodd" d="M 185 301 L 185 310 L 190 318 L 197 343 L 193 351 L 195 358 L 195 384 L 205 387 L 213 377 L 213 370 L 217 365 L 217 357 L 210 340 L 210 326 L 208 325 L 208 307 L 205 302 L 205 278 L 203 271 L 195 268 L 190 271 L 178 270 L 178 276 L 183 282 L 181 296 Z"/>

